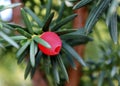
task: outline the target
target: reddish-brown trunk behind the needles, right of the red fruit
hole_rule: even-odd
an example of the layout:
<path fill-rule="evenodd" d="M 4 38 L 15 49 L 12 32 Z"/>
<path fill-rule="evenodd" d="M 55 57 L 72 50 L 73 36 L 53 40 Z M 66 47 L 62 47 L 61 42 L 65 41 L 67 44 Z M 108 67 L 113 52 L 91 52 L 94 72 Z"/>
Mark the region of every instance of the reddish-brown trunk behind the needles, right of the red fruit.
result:
<path fill-rule="evenodd" d="M 86 7 L 82 7 L 80 9 L 77 9 L 74 11 L 74 13 L 77 13 L 77 17 L 73 21 L 73 28 L 82 28 L 85 25 L 87 16 L 88 16 L 88 10 Z M 85 45 L 78 45 L 75 46 L 74 49 L 80 56 L 84 56 L 84 50 L 85 50 Z M 68 69 L 68 75 L 69 75 L 69 83 L 66 83 L 65 86 L 78 86 L 79 81 L 82 75 L 81 72 L 81 65 L 75 61 L 77 70 L 72 69 L 69 67 Z"/>

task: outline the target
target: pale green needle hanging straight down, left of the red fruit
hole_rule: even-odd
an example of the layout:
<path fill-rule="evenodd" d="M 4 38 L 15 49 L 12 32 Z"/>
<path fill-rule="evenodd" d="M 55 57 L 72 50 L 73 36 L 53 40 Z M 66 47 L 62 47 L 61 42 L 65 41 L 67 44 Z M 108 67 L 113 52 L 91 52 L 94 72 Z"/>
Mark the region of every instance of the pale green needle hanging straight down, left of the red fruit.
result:
<path fill-rule="evenodd" d="M 35 66 L 35 43 L 33 40 L 30 44 L 30 63 L 32 67 Z"/>

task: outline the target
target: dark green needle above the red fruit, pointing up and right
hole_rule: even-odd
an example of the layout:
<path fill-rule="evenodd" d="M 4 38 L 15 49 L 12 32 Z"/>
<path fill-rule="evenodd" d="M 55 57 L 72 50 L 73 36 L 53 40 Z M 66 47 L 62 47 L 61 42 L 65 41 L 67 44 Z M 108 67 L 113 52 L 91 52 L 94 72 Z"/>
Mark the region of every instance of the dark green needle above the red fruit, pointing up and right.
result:
<path fill-rule="evenodd" d="M 67 24 L 68 22 L 70 22 L 71 20 L 73 20 L 75 17 L 77 16 L 77 14 L 72 14 L 68 17 L 66 17 L 65 19 L 59 21 L 58 23 L 56 23 L 54 26 L 52 26 L 50 29 L 52 31 L 56 31 L 59 28 L 61 28 L 62 26 L 64 26 L 65 24 Z"/>

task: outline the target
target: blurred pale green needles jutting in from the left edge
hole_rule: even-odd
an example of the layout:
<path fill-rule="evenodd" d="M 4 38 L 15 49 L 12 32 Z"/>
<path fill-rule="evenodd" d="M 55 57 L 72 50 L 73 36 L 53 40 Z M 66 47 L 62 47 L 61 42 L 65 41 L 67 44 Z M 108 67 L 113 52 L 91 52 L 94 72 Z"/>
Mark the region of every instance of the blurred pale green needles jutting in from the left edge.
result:
<path fill-rule="evenodd" d="M 9 8 L 14 8 L 19 5 L 21 5 L 21 4 L 15 3 L 12 5 L 8 5 L 8 6 L 1 5 L 0 12 L 3 10 L 9 9 Z M 3 22 L 0 19 L 0 37 L 2 37 L 5 41 L 7 41 L 9 44 L 13 45 L 14 47 L 19 48 L 19 45 L 8 36 L 8 35 L 10 35 L 9 32 L 11 32 L 11 30 L 13 30 L 13 28 L 10 27 L 6 22 Z M 4 47 L 4 46 L 6 46 L 6 45 L 3 45 L 3 40 L 1 39 L 0 47 Z"/>

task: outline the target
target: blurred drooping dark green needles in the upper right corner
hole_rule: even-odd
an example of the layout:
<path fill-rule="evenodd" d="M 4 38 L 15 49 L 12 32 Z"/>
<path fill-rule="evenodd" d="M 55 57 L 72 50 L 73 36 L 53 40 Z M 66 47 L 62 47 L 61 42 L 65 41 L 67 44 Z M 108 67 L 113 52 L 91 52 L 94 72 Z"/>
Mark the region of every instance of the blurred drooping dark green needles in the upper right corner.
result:
<path fill-rule="evenodd" d="M 73 9 L 78 9 L 92 0 L 82 0 L 79 1 Z M 118 31 L 117 31 L 117 8 L 120 2 L 116 0 L 99 0 L 98 3 L 92 8 L 87 22 L 85 24 L 85 33 L 89 34 L 92 31 L 92 28 L 97 23 L 98 19 L 103 15 L 106 14 L 105 11 L 108 10 L 106 24 L 109 28 L 111 38 L 113 39 L 114 43 L 117 44 L 118 42 Z"/>

